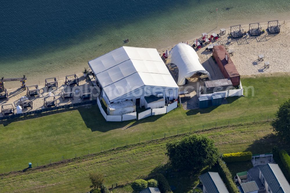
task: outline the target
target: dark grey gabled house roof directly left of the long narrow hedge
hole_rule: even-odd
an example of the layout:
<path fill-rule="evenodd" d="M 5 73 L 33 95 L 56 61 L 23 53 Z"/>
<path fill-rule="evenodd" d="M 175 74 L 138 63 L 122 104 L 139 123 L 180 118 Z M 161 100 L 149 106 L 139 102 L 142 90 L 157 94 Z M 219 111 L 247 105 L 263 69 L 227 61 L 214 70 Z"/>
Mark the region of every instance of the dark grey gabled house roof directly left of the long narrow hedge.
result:
<path fill-rule="evenodd" d="M 217 172 L 207 172 L 199 178 L 208 193 L 229 193 Z"/>

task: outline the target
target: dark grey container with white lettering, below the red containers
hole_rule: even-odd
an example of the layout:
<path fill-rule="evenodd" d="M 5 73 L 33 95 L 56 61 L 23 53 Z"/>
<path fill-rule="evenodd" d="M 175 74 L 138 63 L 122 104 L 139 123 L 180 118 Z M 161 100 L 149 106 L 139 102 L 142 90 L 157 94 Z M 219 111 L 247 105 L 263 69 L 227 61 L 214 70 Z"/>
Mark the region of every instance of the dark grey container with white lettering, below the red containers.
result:
<path fill-rule="evenodd" d="M 226 91 L 233 89 L 233 84 L 230 79 L 219 79 L 204 82 L 204 94 Z"/>

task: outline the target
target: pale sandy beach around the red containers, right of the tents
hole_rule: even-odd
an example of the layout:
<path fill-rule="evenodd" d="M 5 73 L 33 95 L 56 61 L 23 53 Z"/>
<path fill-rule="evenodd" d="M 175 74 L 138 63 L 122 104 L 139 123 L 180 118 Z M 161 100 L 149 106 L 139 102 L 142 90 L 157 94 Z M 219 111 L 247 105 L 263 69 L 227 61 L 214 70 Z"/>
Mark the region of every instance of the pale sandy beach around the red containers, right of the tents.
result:
<path fill-rule="evenodd" d="M 268 34 L 266 30 L 268 23 L 260 23 L 262 30 L 265 30 L 260 36 L 251 36 L 249 34 L 241 38 L 231 38 L 229 37 L 230 29 L 226 29 L 226 34 L 222 35 L 218 40 L 212 41 L 212 43 L 224 44 L 227 49 L 234 51 L 231 59 L 240 75 L 290 72 L 290 65 L 288 63 L 290 60 L 288 54 L 290 49 L 290 21 L 285 21 L 285 23 L 284 21 L 279 22 L 281 24 L 281 29 L 278 34 Z M 248 32 L 249 25 L 242 25 L 242 28 L 244 32 Z M 213 32 L 220 33 L 220 29 L 215 29 L 208 34 Z M 202 34 L 202 32 L 200 34 Z M 196 38 L 201 39 L 201 35 L 200 37 L 195 37 L 186 41 L 192 45 Z M 230 40 L 231 43 L 227 43 L 228 40 Z M 164 48 L 158 51 L 162 54 L 166 49 L 171 50 L 171 48 Z M 206 51 L 206 48 L 207 45 L 199 50 L 195 49 L 195 51 L 200 57 L 204 68 L 208 70 L 210 74 L 216 73 L 216 70 L 211 68 L 211 66 L 213 66 L 213 60 L 210 58 L 212 52 Z M 264 61 L 258 61 L 259 54 L 264 55 Z M 264 68 L 265 61 L 269 61 L 270 68 Z"/>

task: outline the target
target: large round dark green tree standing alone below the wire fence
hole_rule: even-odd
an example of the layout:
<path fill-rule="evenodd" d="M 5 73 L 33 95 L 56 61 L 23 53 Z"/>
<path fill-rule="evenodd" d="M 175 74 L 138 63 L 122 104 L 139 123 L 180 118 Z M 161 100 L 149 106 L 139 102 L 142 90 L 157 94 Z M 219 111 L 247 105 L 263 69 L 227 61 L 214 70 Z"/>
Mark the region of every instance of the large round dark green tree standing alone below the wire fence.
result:
<path fill-rule="evenodd" d="M 213 166 L 219 157 L 214 141 L 205 135 L 188 135 L 166 144 L 172 166 L 179 169 L 201 169 Z"/>

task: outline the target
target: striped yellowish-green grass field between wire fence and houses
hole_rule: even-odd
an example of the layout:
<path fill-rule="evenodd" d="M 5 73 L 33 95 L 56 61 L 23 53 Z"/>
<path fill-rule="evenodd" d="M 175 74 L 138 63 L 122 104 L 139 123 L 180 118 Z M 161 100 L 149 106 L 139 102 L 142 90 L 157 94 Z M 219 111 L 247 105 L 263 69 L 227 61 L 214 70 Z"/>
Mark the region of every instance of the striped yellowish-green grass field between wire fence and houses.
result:
<path fill-rule="evenodd" d="M 215 140 L 222 153 L 252 151 L 271 152 L 273 145 L 280 145 L 269 122 L 240 124 L 230 127 L 197 131 Z M 168 141 L 180 136 L 149 141 L 117 148 L 95 155 L 81 157 L 64 163 L 47 165 L 26 172 L 12 172 L 0 176 L 3 192 L 86 192 L 89 191 L 89 172 L 102 172 L 108 187 L 114 183 L 126 184 L 138 178 L 146 178 L 158 171 L 167 171 L 166 177 L 176 192 L 188 192 L 198 183 L 200 173 L 172 171 L 166 164 Z M 201 173 L 206 172 L 201 171 Z M 130 187 L 117 188 L 114 192 L 130 192 Z"/>

